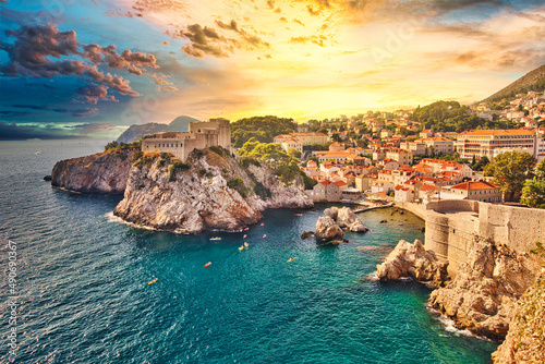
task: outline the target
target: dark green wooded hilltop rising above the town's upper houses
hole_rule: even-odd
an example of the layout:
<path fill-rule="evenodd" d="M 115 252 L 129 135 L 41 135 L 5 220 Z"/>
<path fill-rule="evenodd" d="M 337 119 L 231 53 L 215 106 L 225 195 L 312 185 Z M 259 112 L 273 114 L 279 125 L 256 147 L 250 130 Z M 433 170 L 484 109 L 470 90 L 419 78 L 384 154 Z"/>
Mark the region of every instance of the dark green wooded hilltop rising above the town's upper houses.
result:
<path fill-rule="evenodd" d="M 472 129 L 509 129 L 504 121 L 488 121 L 468 113 L 469 108 L 458 101 L 436 101 L 414 110 L 411 119 L 422 123 L 422 129 L 435 132 L 463 132 Z"/>

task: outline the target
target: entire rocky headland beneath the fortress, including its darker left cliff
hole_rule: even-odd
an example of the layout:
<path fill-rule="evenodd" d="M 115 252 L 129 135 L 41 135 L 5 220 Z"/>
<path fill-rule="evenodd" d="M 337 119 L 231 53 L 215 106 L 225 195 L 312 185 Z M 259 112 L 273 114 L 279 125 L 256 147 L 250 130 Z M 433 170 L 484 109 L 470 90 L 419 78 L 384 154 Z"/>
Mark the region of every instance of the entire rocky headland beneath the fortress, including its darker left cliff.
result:
<path fill-rule="evenodd" d="M 137 149 L 59 161 L 52 185 L 88 193 L 124 193 L 113 214 L 156 230 L 195 234 L 235 231 L 267 208 L 310 208 L 301 174 L 281 179 L 265 165 L 242 166 L 221 147 L 195 149 L 185 162 L 170 153 Z"/>

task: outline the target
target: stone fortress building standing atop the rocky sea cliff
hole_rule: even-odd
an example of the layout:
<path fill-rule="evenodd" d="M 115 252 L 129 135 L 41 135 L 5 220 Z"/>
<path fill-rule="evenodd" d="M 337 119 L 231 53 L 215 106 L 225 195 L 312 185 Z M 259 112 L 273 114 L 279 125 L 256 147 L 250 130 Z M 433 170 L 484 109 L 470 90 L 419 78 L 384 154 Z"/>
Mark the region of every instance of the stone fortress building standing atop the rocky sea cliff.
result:
<path fill-rule="evenodd" d="M 231 123 L 227 119 L 191 122 L 187 132 L 164 132 L 144 135 L 143 151 L 169 151 L 185 161 L 193 149 L 219 146 L 231 150 Z"/>

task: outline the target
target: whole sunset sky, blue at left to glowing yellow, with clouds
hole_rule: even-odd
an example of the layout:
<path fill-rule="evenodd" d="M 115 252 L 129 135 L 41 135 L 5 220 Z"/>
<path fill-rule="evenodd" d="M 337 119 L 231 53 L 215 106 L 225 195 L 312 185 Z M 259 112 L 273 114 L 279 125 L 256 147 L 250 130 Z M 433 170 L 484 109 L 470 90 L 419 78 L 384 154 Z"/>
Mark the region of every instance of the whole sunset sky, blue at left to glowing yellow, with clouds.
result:
<path fill-rule="evenodd" d="M 479 101 L 545 63 L 545 4 L 0 0 L 0 138 Z"/>

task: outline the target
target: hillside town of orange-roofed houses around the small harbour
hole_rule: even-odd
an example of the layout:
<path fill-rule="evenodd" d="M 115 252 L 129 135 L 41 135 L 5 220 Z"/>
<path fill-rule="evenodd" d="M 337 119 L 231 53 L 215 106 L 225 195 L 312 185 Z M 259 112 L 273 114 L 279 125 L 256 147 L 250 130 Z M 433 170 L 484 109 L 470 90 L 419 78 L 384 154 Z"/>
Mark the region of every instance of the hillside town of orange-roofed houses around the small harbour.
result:
<path fill-rule="evenodd" d="M 483 168 L 505 151 L 545 158 L 545 97 L 519 94 L 511 101 L 476 104 L 468 116 L 509 129 L 436 131 L 412 110 L 373 112 L 308 121 L 298 132 L 276 135 L 286 151 L 302 155 L 301 169 L 317 184 L 315 202 L 502 202 Z M 474 169 L 472 169 L 473 166 Z"/>

